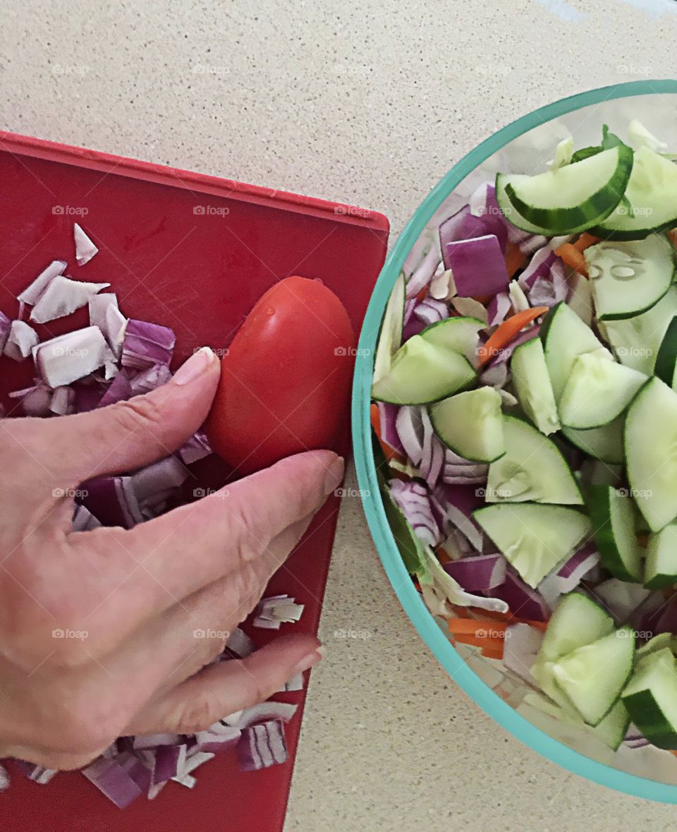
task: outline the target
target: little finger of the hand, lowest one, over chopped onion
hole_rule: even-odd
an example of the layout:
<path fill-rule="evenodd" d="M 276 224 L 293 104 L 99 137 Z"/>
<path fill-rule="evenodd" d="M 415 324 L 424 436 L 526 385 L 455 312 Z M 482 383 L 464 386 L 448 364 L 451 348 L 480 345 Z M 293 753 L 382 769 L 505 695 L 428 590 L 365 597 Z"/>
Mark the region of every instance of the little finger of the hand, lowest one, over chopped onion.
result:
<path fill-rule="evenodd" d="M 222 661 L 151 700 L 126 728 L 129 734 L 192 734 L 224 716 L 269 699 L 323 657 L 315 636 L 282 636 L 246 659 Z"/>

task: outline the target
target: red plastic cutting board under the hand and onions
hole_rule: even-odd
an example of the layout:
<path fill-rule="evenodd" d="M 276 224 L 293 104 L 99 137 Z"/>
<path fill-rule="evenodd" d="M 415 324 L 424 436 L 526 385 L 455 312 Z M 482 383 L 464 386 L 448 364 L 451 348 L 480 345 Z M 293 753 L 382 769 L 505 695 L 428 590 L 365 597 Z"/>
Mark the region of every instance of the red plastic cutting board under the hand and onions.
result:
<path fill-rule="evenodd" d="M 100 249 L 82 269 L 75 265 L 74 221 Z M 76 278 L 110 282 L 127 316 L 174 329 L 175 364 L 202 344 L 225 346 L 259 296 L 293 274 L 323 280 L 358 330 L 388 240 L 388 220 L 373 211 L 4 132 L 0 227 L 5 314 L 16 317 L 17 293 L 50 260 L 67 260 Z M 47 326 L 60 334 L 72 329 L 73 318 Z M 0 358 L 0 401 L 7 404 L 9 390 L 30 383 L 30 364 Z M 348 413 L 345 418 L 343 450 Z M 200 483 L 223 481 L 226 474 L 209 465 L 198 471 Z M 338 503 L 338 497 L 329 499 L 269 587 L 271 594 L 288 592 L 304 603 L 304 616 L 294 625 L 299 630 L 317 631 Z M 250 634 L 259 644 L 274 637 L 263 630 Z M 300 705 L 287 730 L 286 764 L 241 773 L 234 756 L 223 755 L 200 768 L 194 790 L 170 783 L 156 800 L 140 798 L 124 811 L 82 775 L 63 773 L 37 785 L 10 763 L 12 786 L 0 796 L 0 828 L 280 830 L 304 697 L 304 691 L 279 695 Z"/>

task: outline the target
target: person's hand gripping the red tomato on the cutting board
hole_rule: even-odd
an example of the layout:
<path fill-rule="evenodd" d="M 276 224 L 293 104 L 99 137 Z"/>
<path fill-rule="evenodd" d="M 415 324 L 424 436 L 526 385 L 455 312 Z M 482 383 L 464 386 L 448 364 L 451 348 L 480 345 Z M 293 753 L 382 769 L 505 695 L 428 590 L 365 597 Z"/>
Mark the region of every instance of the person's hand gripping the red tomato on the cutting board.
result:
<path fill-rule="evenodd" d="M 340 483 L 335 453 L 299 453 L 131 530 L 72 532 L 74 490 L 178 448 L 218 379 L 203 349 L 150 394 L 0 420 L 0 757 L 78 768 L 118 735 L 202 730 L 319 661 L 299 633 L 210 664 Z"/>

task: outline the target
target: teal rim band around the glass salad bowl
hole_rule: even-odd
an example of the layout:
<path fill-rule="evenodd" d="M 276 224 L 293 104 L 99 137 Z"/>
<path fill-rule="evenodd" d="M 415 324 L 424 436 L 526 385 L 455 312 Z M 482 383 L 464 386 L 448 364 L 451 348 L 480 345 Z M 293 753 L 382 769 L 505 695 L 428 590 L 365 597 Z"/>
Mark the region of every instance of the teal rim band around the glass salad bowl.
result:
<path fill-rule="evenodd" d="M 581 109 L 585 106 L 599 104 L 617 98 L 641 95 L 677 93 L 677 80 L 641 80 L 614 84 L 610 87 L 598 87 L 587 92 L 562 98 L 546 106 L 531 111 L 512 121 L 492 136 L 477 145 L 463 156 L 460 161 L 442 177 L 432 191 L 426 196 L 412 217 L 408 220 L 402 233 L 398 236 L 393 249 L 383 265 L 374 287 L 367 312 L 360 332 L 358 350 L 355 359 L 352 395 L 353 455 L 357 471 L 358 488 L 362 497 L 363 510 L 373 542 L 383 563 L 383 568 L 393 587 L 404 612 L 418 631 L 437 661 L 451 676 L 453 681 L 479 705 L 483 711 L 492 716 L 499 725 L 510 731 L 516 739 L 530 746 L 549 760 L 561 765 L 574 774 L 594 780 L 596 783 L 629 795 L 648 798 L 663 803 L 677 803 L 677 785 L 661 783 L 639 775 L 632 775 L 615 769 L 610 765 L 593 760 L 591 757 L 573 750 L 560 740 L 556 740 L 545 731 L 537 728 L 526 717 L 517 713 L 507 702 L 477 676 L 462 656 L 447 640 L 437 622 L 428 612 L 427 607 L 413 585 L 404 567 L 393 533 L 383 511 L 383 503 L 378 492 L 376 468 L 371 449 L 371 430 L 369 421 L 370 389 L 373 372 L 373 353 L 376 347 L 378 329 L 383 317 L 388 296 L 402 269 L 404 260 L 413 243 L 418 239 L 432 215 L 442 201 L 454 188 L 488 156 L 500 150 L 507 142 L 545 121 L 557 116 Z M 677 762 L 677 761 L 675 761 Z"/>

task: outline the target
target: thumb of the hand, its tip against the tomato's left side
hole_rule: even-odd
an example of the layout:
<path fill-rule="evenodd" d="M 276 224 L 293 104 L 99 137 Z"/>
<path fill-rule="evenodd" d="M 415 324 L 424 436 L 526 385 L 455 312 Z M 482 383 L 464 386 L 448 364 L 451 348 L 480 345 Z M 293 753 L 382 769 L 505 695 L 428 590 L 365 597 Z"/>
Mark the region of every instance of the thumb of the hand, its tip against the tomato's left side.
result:
<path fill-rule="evenodd" d="M 205 421 L 220 363 L 199 349 L 166 384 L 151 393 L 65 418 L 41 420 L 40 437 L 62 484 L 77 485 L 166 457 Z"/>

